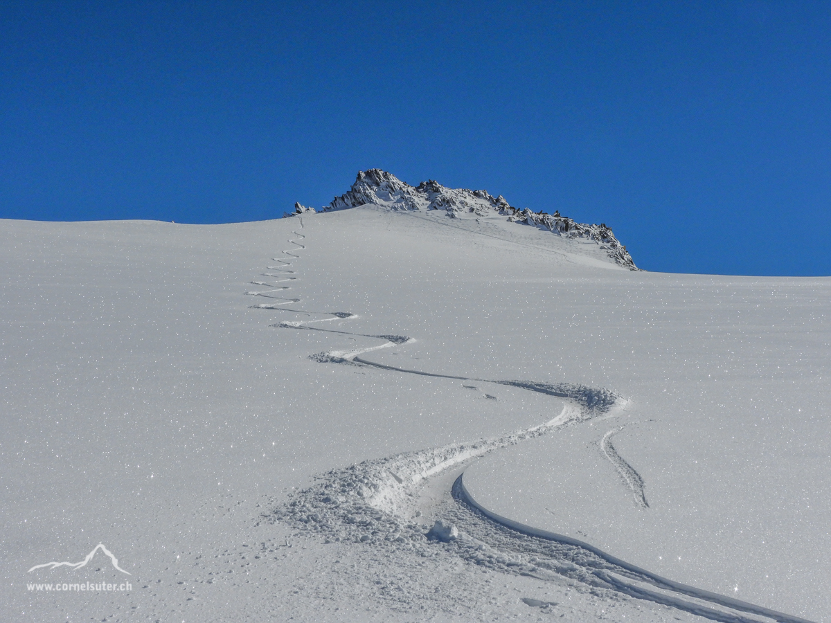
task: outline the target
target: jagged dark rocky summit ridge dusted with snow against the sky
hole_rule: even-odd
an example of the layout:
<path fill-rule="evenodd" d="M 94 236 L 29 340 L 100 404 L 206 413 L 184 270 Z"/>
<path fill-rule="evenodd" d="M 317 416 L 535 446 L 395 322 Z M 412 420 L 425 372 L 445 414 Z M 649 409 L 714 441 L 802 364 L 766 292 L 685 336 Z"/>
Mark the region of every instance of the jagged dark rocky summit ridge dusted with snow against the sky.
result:
<path fill-rule="evenodd" d="M 475 214 L 477 217 L 499 214 L 507 216 L 512 223 L 535 225 L 565 238 L 588 238 L 605 250 L 614 262 L 638 270 L 626 247 L 615 238 L 612 229 L 605 223 L 577 223 L 572 218 L 561 216 L 559 211 L 548 214 L 534 212 L 529 208 L 514 208 L 501 194 L 494 198 L 486 190 L 448 189 L 433 179 L 411 186 L 381 169 L 358 171 L 352 189 L 332 199 L 330 204 L 319 210 L 294 204 L 294 212 L 287 213 L 286 216 L 329 212 L 367 204 L 401 211 L 445 210 L 450 218 L 458 218 L 460 214 Z"/>

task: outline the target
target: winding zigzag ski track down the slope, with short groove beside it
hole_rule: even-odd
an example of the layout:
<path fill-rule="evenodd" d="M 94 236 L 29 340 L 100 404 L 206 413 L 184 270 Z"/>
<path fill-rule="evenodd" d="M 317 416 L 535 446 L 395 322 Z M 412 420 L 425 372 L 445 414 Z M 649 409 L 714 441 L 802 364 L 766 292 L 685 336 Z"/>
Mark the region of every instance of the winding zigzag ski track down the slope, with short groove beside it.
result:
<path fill-rule="evenodd" d="M 298 216 L 297 220 L 302 230 L 302 217 Z M 297 231 L 292 233 L 306 238 Z M 305 245 L 295 239 L 288 242 L 297 248 L 283 253 L 289 258 L 299 259 L 300 256 L 293 251 L 305 249 Z M 278 270 L 285 275 L 294 274 L 293 270 L 288 269 L 292 265 L 292 260 L 273 258 L 273 261 L 280 262 L 282 266 L 269 266 L 268 270 Z M 307 321 L 281 321 L 272 325 L 273 327 L 325 331 L 384 341 L 378 346 L 316 353 L 310 356 L 313 361 L 359 365 L 441 379 L 509 385 L 567 400 L 557 417 L 529 429 L 520 429 L 493 439 L 478 439 L 462 444 L 447 444 L 438 448 L 396 454 L 384 459 L 369 459 L 347 468 L 332 469 L 319 474 L 316 483 L 293 493 L 288 503 L 274 502 L 273 510 L 263 513 L 265 520 L 283 521 L 302 532 L 317 533 L 324 538 L 324 542 L 368 543 L 376 547 L 393 548 L 397 552 L 405 550 L 416 554 L 425 552 L 426 547 L 435 548 L 439 544 L 445 547 L 445 553 L 449 556 L 459 556 L 467 562 L 494 571 L 532 576 L 542 581 L 562 581 L 565 577 L 578 582 L 579 585 L 591 586 L 591 590 L 598 596 L 628 596 L 652 601 L 721 623 L 812 623 L 797 616 L 789 616 L 763 606 L 755 606 L 668 580 L 602 552 L 586 542 L 501 517 L 476 502 L 465 488 L 463 466 L 473 459 L 548 434 L 561 426 L 593 418 L 612 417 L 627 404 L 627 400 L 621 396 L 602 388 L 594 389 L 571 383 L 487 380 L 410 370 L 368 361 L 361 358 L 361 355 L 415 340 L 407 336 L 370 335 L 309 326 L 312 322 L 349 320 L 358 316 L 352 312 L 308 312 L 285 307 L 288 303 L 300 302 L 300 299 L 279 297 L 274 291 L 290 289 L 288 286 L 277 284 L 295 281 L 297 277 L 275 274 L 263 276 L 284 278 L 278 282 L 252 282 L 254 285 L 268 287 L 268 290 L 251 291 L 246 294 L 279 299 L 283 303 L 259 304 L 252 306 L 253 308 L 301 313 L 307 316 L 331 316 Z M 463 386 L 476 389 L 473 385 Z M 643 479 L 626 460 L 622 459 L 612 444 L 612 436 L 618 430 L 612 429 L 603 435 L 600 444 L 602 452 L 626 481 L 637 504 L 642 508 L 649 508 Z M 434 513 L 437 521 L 432 529 L 428 530 L 430 526 L 421 523 L 419 519 L 420 498 L 423 497 L 420 493 L 429 488 L 431 477 L 452 472 L 454 468 L 458 472 L 458 477 L 453 481 L 450 491 L 445 487 L 442 492 L 444 497 Z M 524 598 L 523 601 L 529 606 L 555 605 L 532 598 Z"/>

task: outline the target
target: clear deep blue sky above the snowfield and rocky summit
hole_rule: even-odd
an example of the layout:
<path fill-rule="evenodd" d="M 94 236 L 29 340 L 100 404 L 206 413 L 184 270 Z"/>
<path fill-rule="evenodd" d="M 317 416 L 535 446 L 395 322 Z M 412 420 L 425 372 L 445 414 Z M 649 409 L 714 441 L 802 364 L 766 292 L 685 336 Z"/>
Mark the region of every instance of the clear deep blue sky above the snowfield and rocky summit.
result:
<path fill-rule="evenodd" d="M 372 167 L 831 275 L 831 2 L 0 4 L 0 218 L 276 218 Z"/>

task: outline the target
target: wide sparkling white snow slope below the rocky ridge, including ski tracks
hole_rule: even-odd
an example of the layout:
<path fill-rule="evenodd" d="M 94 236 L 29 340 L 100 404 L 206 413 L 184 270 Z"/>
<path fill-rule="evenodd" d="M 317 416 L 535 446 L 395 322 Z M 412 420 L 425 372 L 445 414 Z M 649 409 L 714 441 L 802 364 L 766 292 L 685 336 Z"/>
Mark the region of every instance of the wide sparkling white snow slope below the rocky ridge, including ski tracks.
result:
<path fill-rule="evenodd" d="M 456 217 L 4 221 L 0 619 L 831 620 L 831 280 Z"/>

